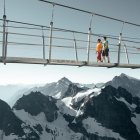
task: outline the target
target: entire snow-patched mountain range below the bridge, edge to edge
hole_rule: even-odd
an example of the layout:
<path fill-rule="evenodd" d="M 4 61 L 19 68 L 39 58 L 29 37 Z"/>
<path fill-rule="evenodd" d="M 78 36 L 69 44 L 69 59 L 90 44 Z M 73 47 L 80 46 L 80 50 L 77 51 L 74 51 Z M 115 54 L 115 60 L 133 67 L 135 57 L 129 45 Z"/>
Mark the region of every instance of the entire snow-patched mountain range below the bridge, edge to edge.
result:
<path fill-rule="evenodd" d="M 131 80 L 139 85 L 124 74 L 117 77 L 120 83 L 122 76 L 126 85 Z M 62 78 L 50 84 L 52 90 L 23 95 L 12 109 L 0 100 L 0 139 L 140 140 L 140 96 L 136 89 L 115 85 L 115 79 L 114 85 L 110 81 L 104 88 L 85 88 Z"/>

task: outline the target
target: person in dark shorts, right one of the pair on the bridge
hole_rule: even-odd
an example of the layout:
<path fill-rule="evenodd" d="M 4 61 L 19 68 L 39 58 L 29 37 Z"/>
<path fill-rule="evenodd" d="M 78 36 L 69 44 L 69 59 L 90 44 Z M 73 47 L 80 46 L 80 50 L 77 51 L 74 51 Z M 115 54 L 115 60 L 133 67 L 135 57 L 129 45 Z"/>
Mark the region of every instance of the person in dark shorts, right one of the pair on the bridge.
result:
<path fill-rule="evenodd" d="M 103 56 L 103 61 L 104 62 L 106 62 L 105 57 L 107 57 L 107 61 L 108 61 L 108 63 L 110 63 L 109 47 L 108 47 L 108 41 L 107 41 L 107 38 L 106 37 L 104 37 L 102 56 Z"/>

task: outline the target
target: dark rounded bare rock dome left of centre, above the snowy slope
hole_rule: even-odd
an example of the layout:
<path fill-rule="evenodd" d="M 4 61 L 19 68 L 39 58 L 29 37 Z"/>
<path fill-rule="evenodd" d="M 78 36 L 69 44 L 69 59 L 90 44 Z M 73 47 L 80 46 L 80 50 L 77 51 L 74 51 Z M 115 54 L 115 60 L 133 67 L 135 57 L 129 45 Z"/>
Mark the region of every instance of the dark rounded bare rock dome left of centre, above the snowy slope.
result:
<path fill-rule="evenodd" d="M 31 94 L 23 96 L 17 101 L 13 109 L 25 110 L 32 116 L 36 116 L 44 112 L 47 121 L 52 122 L 57 119 L 56 100 L 50 96 L 45 96 L 40 92 L 31 92 Z"/>

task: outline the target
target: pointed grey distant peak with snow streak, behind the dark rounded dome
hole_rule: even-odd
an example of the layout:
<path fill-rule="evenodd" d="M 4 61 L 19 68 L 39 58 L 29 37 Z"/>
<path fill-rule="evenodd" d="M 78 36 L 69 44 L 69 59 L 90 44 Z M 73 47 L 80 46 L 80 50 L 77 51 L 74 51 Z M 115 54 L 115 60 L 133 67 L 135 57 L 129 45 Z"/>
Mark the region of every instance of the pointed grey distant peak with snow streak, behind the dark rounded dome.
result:
<path fill-rule="evenodd" d="M 39 91 L 43 93 L 44 95 L 49 95 L 52 96 L 56 99 L 62 99 L 68 96 L 74 96 L 77 94 L 77 92 L 85 90 L 86 87 L 80 87 L 75 83 L 72 83 L 70 80 L 67 78 L 63 77 L 60 79 L 58 82 L 53 82 L 50 84 L 46 84 L 42 87 L 34 87 L 31 88 L 30 90 L 22 93 L 22 94 L 29 94 L 30 92 L 34 91 Z M 88 88 L 86 88 L 88 89 Z"/>

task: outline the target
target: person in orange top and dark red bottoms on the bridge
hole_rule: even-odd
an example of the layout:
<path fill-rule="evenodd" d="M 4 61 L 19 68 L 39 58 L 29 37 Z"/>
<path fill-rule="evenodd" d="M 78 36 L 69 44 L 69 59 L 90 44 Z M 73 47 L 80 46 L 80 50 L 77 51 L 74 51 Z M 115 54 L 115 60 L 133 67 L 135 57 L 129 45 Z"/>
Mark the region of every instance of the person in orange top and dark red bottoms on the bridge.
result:
<path fill-rule="evenodd" d="M 103 62 L 102 60 L 102 42 L 101 39 L 97 40 L 97 46 L 96 46 L 96 54 L 97 54 L 97 62 Z"/>

